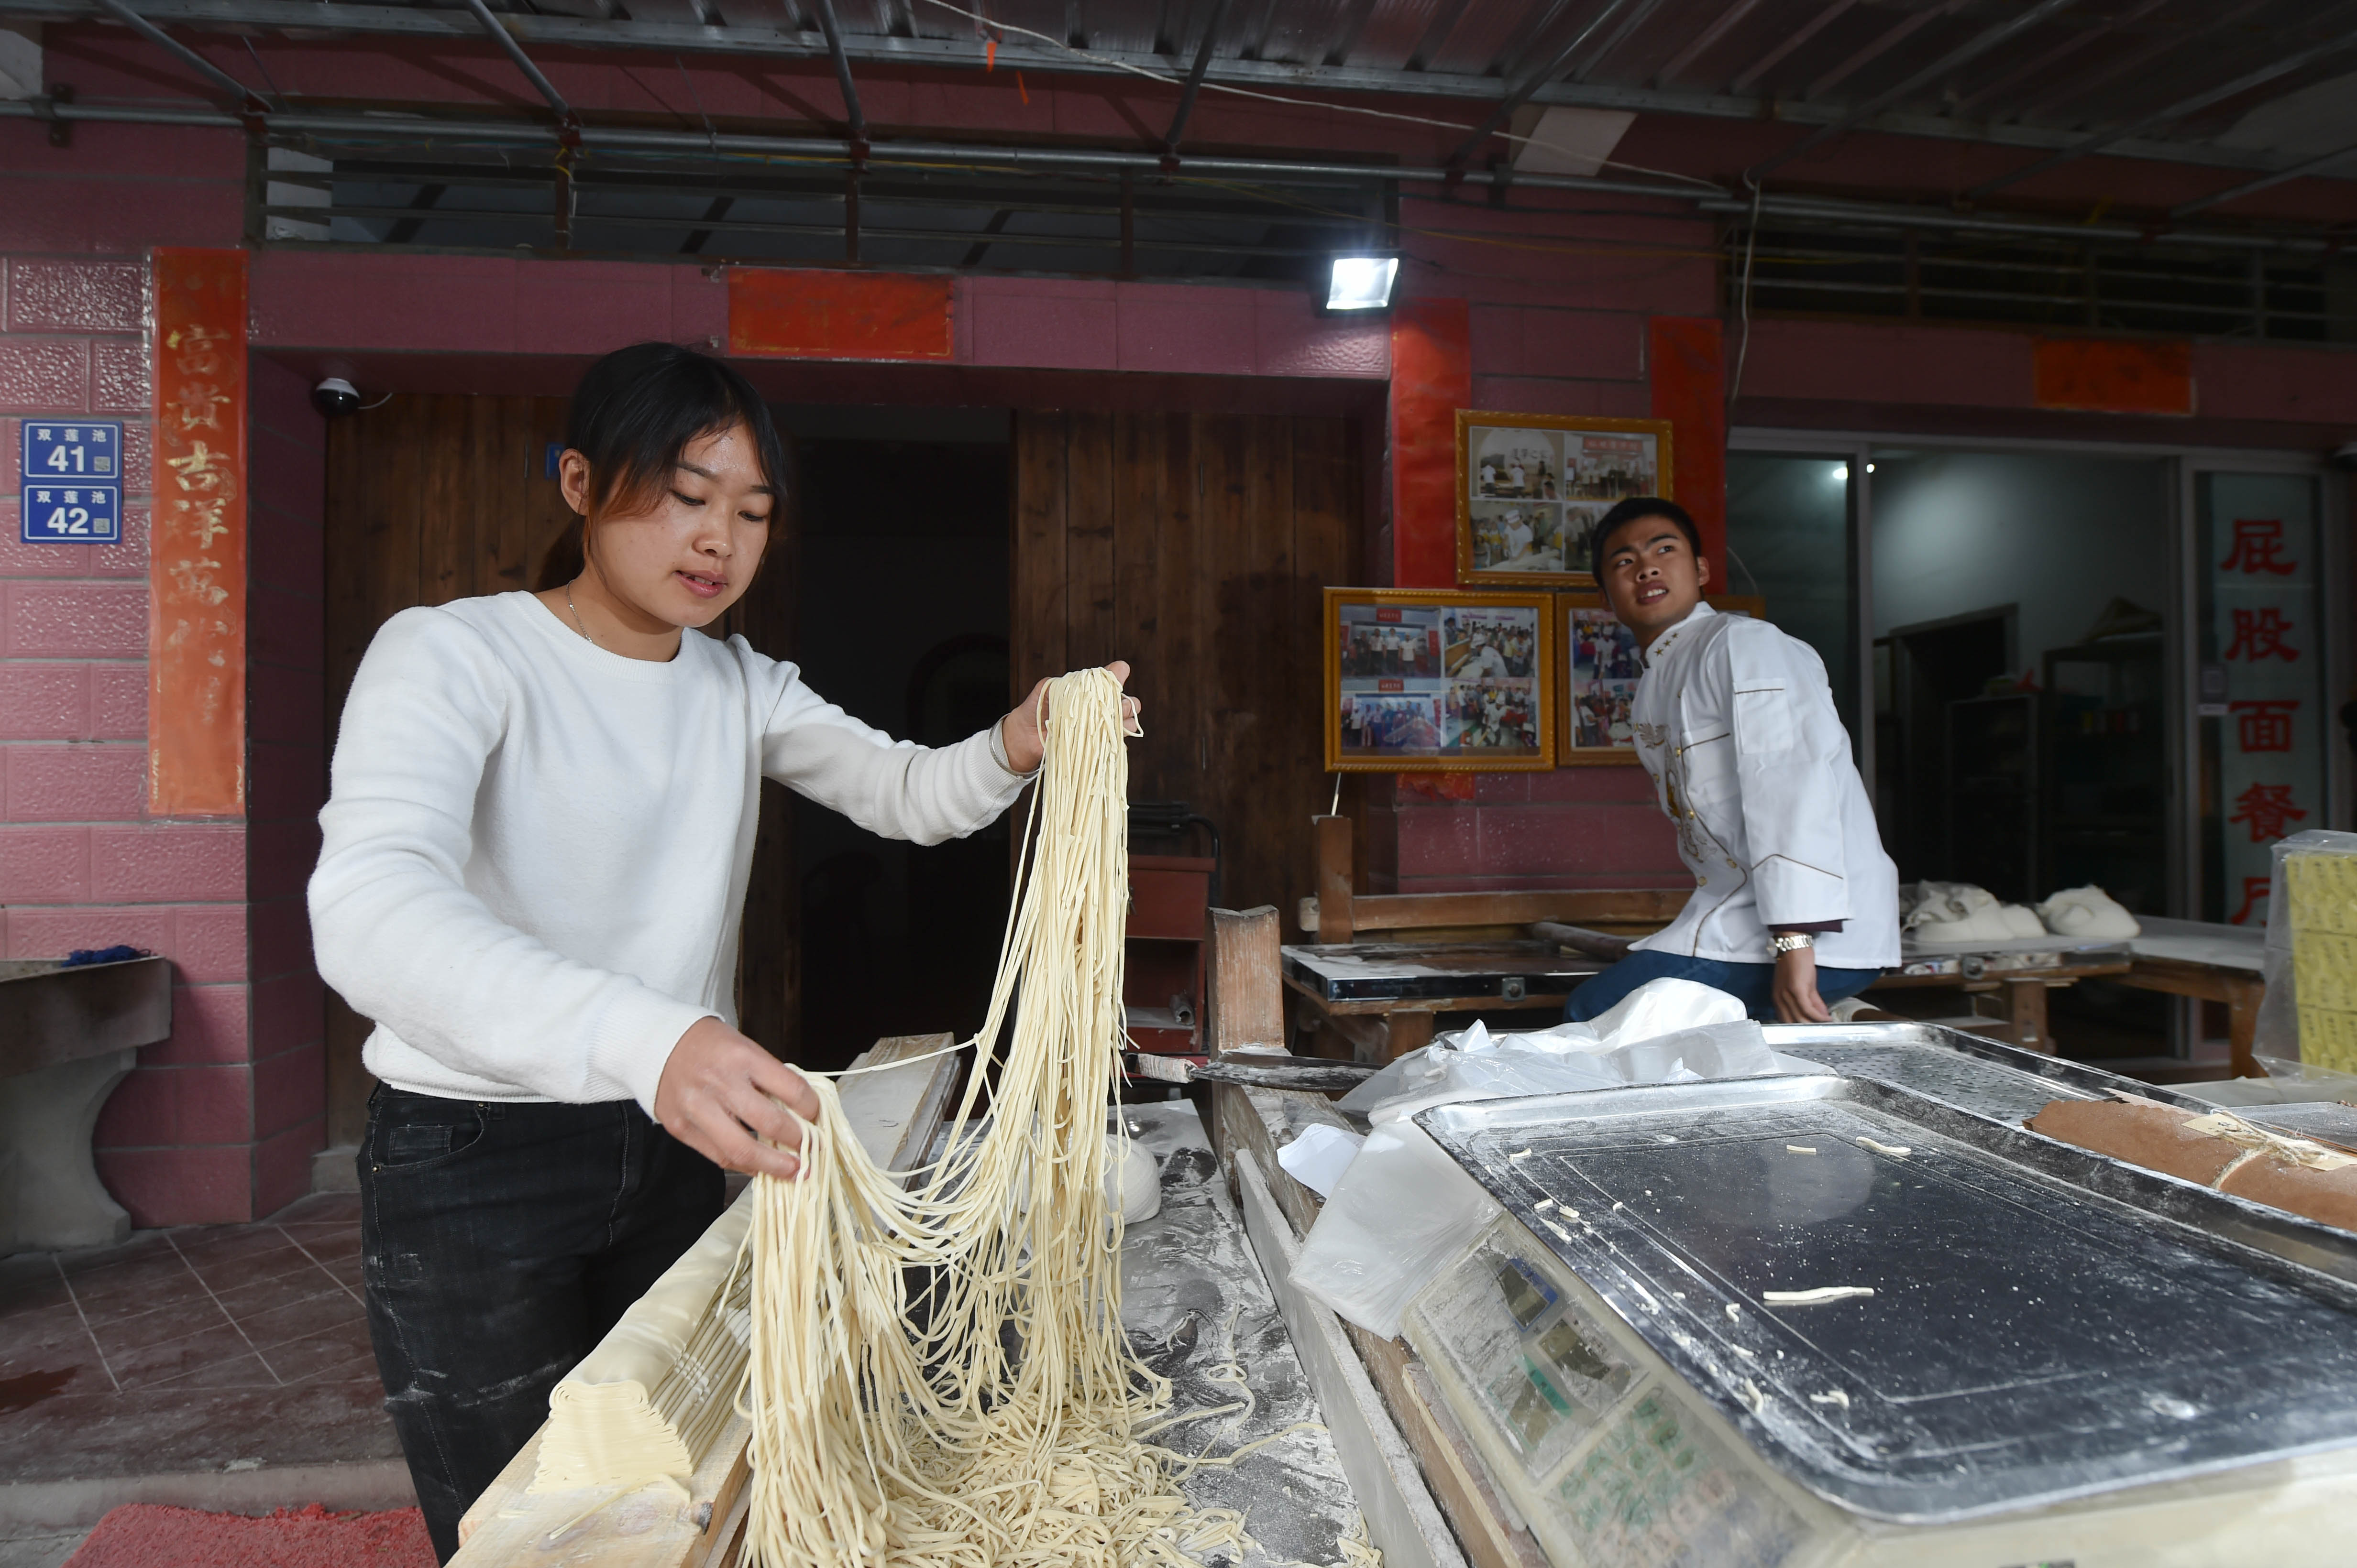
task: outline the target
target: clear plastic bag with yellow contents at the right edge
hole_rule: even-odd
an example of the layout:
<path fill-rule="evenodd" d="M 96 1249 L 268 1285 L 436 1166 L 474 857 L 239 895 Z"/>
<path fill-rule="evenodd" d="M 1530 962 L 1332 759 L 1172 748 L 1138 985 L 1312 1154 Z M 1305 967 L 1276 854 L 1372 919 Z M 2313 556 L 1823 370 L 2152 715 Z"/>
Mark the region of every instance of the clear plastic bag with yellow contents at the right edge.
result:
<path fill-rule="evenodd" d="M 2319 829 L 2275 845 L 2263 965 L 2251 1050 L 2357 1074 L 2357 833 Z"/>

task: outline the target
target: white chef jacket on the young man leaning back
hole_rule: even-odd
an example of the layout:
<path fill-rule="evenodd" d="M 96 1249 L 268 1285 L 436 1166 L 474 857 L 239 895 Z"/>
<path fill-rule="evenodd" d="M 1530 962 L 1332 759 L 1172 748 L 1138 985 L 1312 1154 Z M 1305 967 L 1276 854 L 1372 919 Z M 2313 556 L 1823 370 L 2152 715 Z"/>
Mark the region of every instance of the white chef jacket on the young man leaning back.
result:
<path fill-rule="evenodd" d="M 1631 720 L 1695 873 L 1678 918 L 1636 946 L 1772 963 L 1768 928 L 1843 921 L 1817 935 L 1820 968 L 1900 961 L 1900 873 L 1815 647 L 1695 605 L 1645 650 Z"/>

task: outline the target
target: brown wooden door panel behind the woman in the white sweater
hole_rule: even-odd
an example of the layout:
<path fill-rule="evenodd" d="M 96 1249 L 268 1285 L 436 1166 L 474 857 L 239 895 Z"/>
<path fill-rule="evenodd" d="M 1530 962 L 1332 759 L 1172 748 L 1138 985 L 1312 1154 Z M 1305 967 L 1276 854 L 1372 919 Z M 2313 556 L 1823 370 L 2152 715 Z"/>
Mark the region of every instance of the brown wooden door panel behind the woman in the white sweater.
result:
<path fill-rule="evenodd" d="M 396 396 L 328 426 L 328 735 L 377 626 L 410 605 L 535 586 L 540 558 L 570 520 L 549 473 L 563 398 Z M 754 589 L 712 631 L 742 631 L 773 657 L 792 647 L 792 509 Z M 745 1031 L 792 1052 L 794 899 L 783 791 L 764 786 L 754 883 L 745 909 Z M 375 1078 L 361 1067 L 370 1022 L 328 994 L 328 1142 L 358 1142 Z"/>

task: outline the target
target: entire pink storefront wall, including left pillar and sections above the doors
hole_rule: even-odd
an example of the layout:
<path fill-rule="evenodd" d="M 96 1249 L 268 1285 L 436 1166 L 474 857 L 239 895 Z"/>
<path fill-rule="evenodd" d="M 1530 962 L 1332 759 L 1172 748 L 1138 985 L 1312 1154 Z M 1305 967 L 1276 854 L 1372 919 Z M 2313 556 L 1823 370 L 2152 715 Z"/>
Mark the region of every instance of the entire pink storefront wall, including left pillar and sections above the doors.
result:
<path fill-rule="evenodd" d="M 247 45 L 189 35 L 231 73 Z M 85 99 L 146 99 L 184 71 L 120 28 L 47 31 L 52 73 Z M 271 73 L 306 97 L 410 97 L 523 104 L 488 45 L 255 40 Z M 823 61 L 745 73 L 719 59 L 643 71 L 613 54 L 542 52 L 585 108 L 778 118 L 834 113 Z M 691 80 L 693 78 L 693 87 Z M 676 89 L 676 92 L 674 92 Z M 863 71 L 867 115 L 886 132 L 1129 139 L 1164 122 L 1150 82 L 1011 73 Z M 1438 113 L 1417 101 L 1402 108 Z M 1775 125 L 1640 120 L 1622 158 L 1671 170 L 1751 162 L 1791 132 Z M 1204 146 L 1393 153 L 1433 162 L 1457 141 L 1433 127 L 1327 111 L 1207 99 Z M 1923 158 L 1970 181 L 2008 153 L 1850 139 L 1813 160 L 1827 184 L 1886 188 L 1923 177 Z M 236 245 L 245 144 L 236 132 L 45 127 L 0 120 L 0 445 L 14 464 L 16 417 L 87 412 L 132 424 L 146 473 L 148 351 L 141 337 L 151 245 Z M 2152 195 L 2183 172 L 2084 160 L 2077 179 Z M 2317 181 L 2308 181 L 2315 195 Z M 2209 188 L 2199 177 L 2187 191 Z M 2293 191 L 2300 191 L 2296 186 Z M 2303 195 L 2303 200 L 2308 200 Z M 1714 228 L 1673 202 L 1518 191 L 1516 210 L 1480 193 L 1402 195 L 1409 297 L 1471 301 L 1473 400 L 1534 412 L 1648 414 L 1645 320 L 1714 315 Z M 304 405 L 306 356 L 474 356 L 495 388 L 504 367 L 566 365 L 636 337 L 721 341 L 726 290 L 700 266 L 509 257 L 325 257 L 264 252 L 252 264 L 252 636 L 245 822 L 146 822 L 146 504 L 113 549 L 24 549 L 0 501 L 0 951 L 57 954 L 134 942 L 177 963 L 174 1034 L 144 1052 L 99 1130 L 106 1180 L 144 1224 L 236 1220 L 302 1189 L 321 1140 L 323 998 L 309 961 L 302 881 L 316 855 L 325 786 L 321 697 L 321 426 Z M 962 367 L 1146 377 L 1391 374 L 1379 325 L 1336 323 L 1299 292 L 1108 280 L 964 278 Z M 2348 360 L 2329 351 L 2201 346 L 2204 421 L 2308 431 L 2357 419 Z M 535 372 L 537 374 L 537 372 Z M 943 372 L 948 374 L 948 372 Z M 2027 334 L 1758 323 L 1747 407 L 1782 421 L 1907 410 L 1921 428 L 1999 410 L 2029 417 Z M 1815 410 L 1815 417 L 1810 412 Z M 1956 426 L 1963 428 L 1963 426 Z M 2093 426 L 2084 426 L 2093 428 Z M 2206 424 L 2204 424 L 2206 428 Z M 2187 426 L 2131 421 L 2114 438 L 2168 440 Z M 2305 436 L 2286 445 L 2308 445 Z M 1381 454 L 1369 452 L 1369 461 Z M 14 476 L 9 476 L 14 478 Z M 1381 485 L 1369 485 L 1379 497 Z M 1379 511 L 1379 509 L 1376 509 Z M 1381 518 L 1369 518 L 1369 530 Z M 1388 551 L 1376 551 L 1388 560 Z M 1636 770 L 1579 768 L 1483 777 L 1468 791 L 1367 779 L 1362 819 L 1376 885 L 1681 885 L 1671 836 Z"/>

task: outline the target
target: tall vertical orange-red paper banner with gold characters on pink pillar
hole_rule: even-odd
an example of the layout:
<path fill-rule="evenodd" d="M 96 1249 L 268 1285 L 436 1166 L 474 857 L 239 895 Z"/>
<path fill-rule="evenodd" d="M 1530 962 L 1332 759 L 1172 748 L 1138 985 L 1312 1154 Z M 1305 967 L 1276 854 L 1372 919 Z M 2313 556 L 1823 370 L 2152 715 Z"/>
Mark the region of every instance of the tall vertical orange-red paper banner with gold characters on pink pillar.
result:
<path fill-rule="evenodd" d="M 245 810 L 245 252 L 158 250 L 148 812 Z"/>

